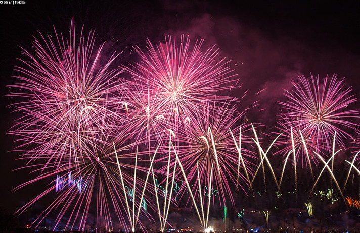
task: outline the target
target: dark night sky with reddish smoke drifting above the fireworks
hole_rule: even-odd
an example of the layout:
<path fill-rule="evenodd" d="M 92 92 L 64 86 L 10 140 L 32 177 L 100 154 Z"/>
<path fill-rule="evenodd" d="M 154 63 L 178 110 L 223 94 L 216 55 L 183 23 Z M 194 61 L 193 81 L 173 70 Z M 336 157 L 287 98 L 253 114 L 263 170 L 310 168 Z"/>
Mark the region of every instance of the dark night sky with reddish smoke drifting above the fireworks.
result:
<path fill-rule="evenodd" d="M 235 2 L 235 3 L 234 3 Z M 310 73 L 346 77 L 354 93 L 360 91 L 360 8 L 358 1 L 28 1 L 25 4 L 0 4 L 0 88 L 15 82 L 14 66 L 21 49 L 31 49 L 39 33 L 68 33 L 71 18 L 84 31 L 95 29 L 97 41 L 107 41 L 105 51 L 124 51 L 120 58 L 127 65 L 138 59 L 132 46 L 145 49 L 148 38 L 153 44 L 164 35 L 189 35 L 204 38 L 204 48 L 216 45 L 220 57 L 243 83 L 241 93 L 249 89 L 244 105 L 260 100 L 265 113 L 257 119 L 273 124 L 271 114 L 282 88 L 299 74 Z M 261 95 L 255 93 L 267 88 Z M 239 96 L 240 93 L 232 93 Z M 0 207 L 13 212 L 29 200 L 31 188 L 11 190 L 28 180 L 22 166 L 8 152 L 16 145 L 6 135 L 17 114 L 7 107 L 12 103 L 1 97 Z"/>

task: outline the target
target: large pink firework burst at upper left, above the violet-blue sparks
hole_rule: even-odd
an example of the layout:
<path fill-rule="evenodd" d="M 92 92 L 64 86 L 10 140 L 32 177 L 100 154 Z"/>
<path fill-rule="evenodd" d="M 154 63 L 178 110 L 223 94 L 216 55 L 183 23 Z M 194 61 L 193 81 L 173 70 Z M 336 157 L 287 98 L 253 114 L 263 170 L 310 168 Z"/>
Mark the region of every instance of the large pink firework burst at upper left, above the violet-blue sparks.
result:
<path fill-rule="evenodd" d="M 116 56 L 103 64 L 103 45 L 95 49 L 94 32 L 81 32 L 79 39 L 75 34 L 71 22 L 69 39 L 41 35 L 42 41 L 33 43 L 34 54 L 24 50 L 27 60 L 17 67 L 20 82 L 10 86 L 16 92 L 9 94 L 22 100 L 14 105 L 23 116 L 8 132 L 20 138 L 20 148 L 31 148 L 22 151 L 24 157 L 82 157 L 78 148 L 109 134 L 115 128 L 110 123 L 121 118 L 116 111 L 122 96 L 116 76 L 122 70 L 109 69 Z"/>

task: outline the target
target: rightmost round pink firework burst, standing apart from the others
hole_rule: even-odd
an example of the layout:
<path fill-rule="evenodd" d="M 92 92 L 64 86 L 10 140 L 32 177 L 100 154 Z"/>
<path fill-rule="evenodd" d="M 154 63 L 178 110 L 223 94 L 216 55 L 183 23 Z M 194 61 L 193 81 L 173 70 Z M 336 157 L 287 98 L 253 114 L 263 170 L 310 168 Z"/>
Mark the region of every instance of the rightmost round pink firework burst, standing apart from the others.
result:
<path fill-rule="evenodd" d="M 346 140 L 353 138 L 352 133 L 358 127 L 355 123 L 358 111 L 349 105 L 357 99 L 343 80 L 338 80 L 335 75 L 323 80 L 311 75 L 309 79 L 300 76 L 299 83 L 292 81 L 292 84 L 293 89 L 285 93 L 288 100 L 280 103 L 283 136 L 277 144 L 286 146 L 282 153 L 292 150 L 293 141 L 298 159 L 302 157 L 303 164 L 305 159 L 301 155 L 306 152 L 311 160 L 316 160 L 313 152 L 331 151 L 335 132 L 337 145 L 344 146 Z"/>

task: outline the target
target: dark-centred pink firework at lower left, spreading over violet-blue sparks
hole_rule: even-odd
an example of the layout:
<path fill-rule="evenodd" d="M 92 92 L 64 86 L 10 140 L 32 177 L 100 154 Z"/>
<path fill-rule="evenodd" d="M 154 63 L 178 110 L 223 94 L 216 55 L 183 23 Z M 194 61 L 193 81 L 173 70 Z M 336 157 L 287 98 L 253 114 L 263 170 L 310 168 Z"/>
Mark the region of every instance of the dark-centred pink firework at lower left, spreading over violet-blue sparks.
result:
<path fill-rule="evenodd" d="M 71 163 L 70 166 L 67 162 L 60 165 L 58 162 L 47 162 L 47 167 L 44 168 L 44 164 L 37 162 L 38 164 L 33 165 L 32 169 L 37 168 L 35 171 L 42 171 L 40 176 L 22 184 L 17 189 L 43 181 L 48 177 L 56 177 L 56 179 L 49 184 L 46 191 L 24 205 L 18 213 L 23 212 L 43 197 L 52 196 L 52 192 L 55 190 L 57 194 L 55 200 L 34 220 L 32 226 L 37 227 L 47 215 L 56 211 L 57 219 L 54 223 L 54 230 L 65 216 L 68 218 L 65 229 L 84 230 L 86 223 L 93 220 L 88 219 L 89 213 L 95 213 L 96 220 L 94 222 L 97 226 L 99 221 L 104 219 L 107 230 L 113 230 L 116 221 L 122 226 L 126 226 L 127 221 L 124 216 L 127 215 L 130 219 L 130 216 L 136 214 L 124 211 L 128 205 L 127 196 L 129 194 L 125 192 L 125 187 L 133 188 L 132 196 L 130 195 L 133 205 L 139 205 L 141 207 L 139 207 L 139 212 L 142 209 L 146 213 L 145 205 L 151 205 L 151 203 L 145 201 L 147 195 L 144 196 L 144 192 L 149 188 L 146 187 L 147 181 L 141 177 L 149 168 L 137 166 L 137 153 L 131 152 L 134 144 L 127 144 L 127 138 L 128 135 L 124 134 L 111 142 L 106 138 L 99 139 L 95 148 L 87 147 L 87 150 L 84 151 L 87 156 L 83 157 L 81 162 Z M 114 145 L 118 145 L 115 151 Z M 140 155 L 144 156 L 144 153 L 140 153 Z M 41 159 L 46 160 L 46 157 Z M 133 172 L 138 173 L 136 183 L 143 187 L 141 198 L 138 197 L 138 193 L 135 193 L 136 188 L 132 186 L 132 182 L 135 181 L 132 176 Z M 59 174 L 63 175 L 59 176 Z M 119 182 L 120 177 L 121 183 Z M 139 216 L 139 212 L 137 216 Z M 78 225 L 75 225 L 77 223 Z M 133 228 L 132 223 L 130 222 L 131 228 Z"/>

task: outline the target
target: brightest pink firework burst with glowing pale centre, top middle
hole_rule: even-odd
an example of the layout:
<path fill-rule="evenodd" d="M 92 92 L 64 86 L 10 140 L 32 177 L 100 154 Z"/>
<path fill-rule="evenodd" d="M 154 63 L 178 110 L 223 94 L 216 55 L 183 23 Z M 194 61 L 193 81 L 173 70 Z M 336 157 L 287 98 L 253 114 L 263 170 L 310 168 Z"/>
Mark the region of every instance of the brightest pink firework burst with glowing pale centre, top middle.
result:
<path fill-rule="evenodd" d="M 235 74 L 224 59 L 217 59 L 217 49 L 212 47 L 203 52 L 202 43 L 200 40 L 192 45 L 184 36 L 177 42 L 168 36 L 165 44 L 156 47 L 148 41 L 147 53 L 137 48 L 142 61 L 129 72 L 141 84 L 152 88 L 151 101 L 163 115 L 191 118 L 215 99 L 218 102 L 230 99 L 220 96 L 220 91 L 230 88 Z"/>

